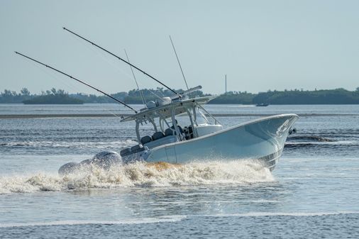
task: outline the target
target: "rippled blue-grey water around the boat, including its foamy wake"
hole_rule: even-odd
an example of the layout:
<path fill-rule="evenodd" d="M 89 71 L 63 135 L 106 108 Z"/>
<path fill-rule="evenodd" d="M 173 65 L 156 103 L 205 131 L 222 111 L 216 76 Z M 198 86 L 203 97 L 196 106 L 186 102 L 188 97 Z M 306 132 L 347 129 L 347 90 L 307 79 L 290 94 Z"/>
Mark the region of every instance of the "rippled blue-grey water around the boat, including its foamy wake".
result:
<path fill-rule="evenodd" d="M 278 113 L 300 118 L 273 172 L 218 160 L 60 176 L 67 162 L 136 144 L 133 123 L 79 115 L 131 112 L 0 104 L 0 238 L 359 238 L 359 105 L 206 109 L 225 128 Z"/>

